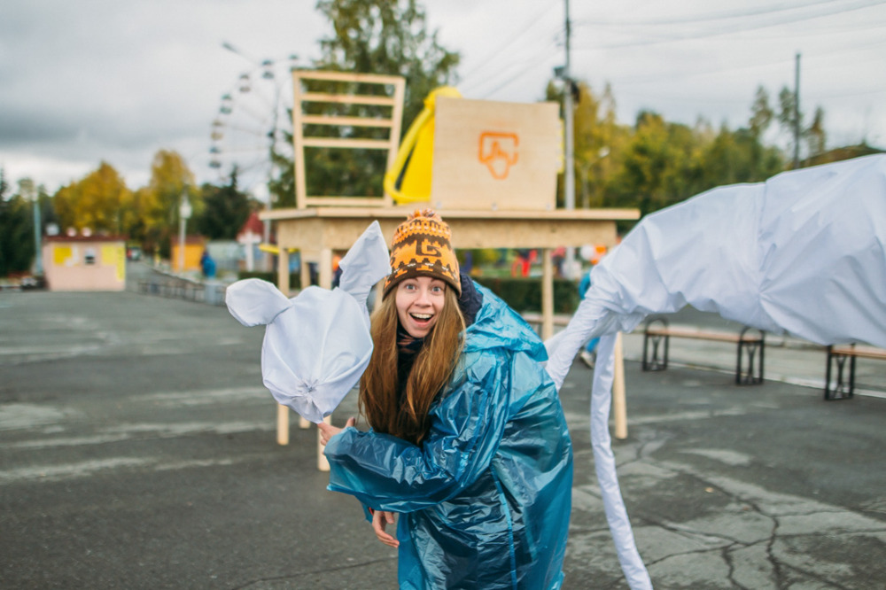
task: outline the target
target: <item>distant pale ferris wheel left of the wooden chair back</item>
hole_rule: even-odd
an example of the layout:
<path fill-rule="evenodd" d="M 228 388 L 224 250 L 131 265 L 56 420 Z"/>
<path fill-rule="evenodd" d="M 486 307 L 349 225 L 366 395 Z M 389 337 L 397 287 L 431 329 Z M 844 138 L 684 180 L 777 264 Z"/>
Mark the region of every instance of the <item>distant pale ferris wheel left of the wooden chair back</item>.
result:
<path fill-rule="evenodd" d="M 268 205 L 273 198 L 268 181 L 279 174 L 275 155 L 292 161 L 291 71 L 296 59 L 265 59 L 240 74 L 221 96 L 212 123 L 209 167 L 218 182 L 229 182 L 237 169 L 238 188 Z"/>

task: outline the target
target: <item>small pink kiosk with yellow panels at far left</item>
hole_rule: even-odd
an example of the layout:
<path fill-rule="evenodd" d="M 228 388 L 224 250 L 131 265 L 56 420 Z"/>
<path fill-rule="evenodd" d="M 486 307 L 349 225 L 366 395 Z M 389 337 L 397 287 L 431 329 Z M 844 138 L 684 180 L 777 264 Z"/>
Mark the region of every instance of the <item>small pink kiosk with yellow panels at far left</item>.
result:
<path fill-rule="evenodd" d="M 123 291 L 126 238 L 44 237 L 43 273 L 50 291 Z"/>

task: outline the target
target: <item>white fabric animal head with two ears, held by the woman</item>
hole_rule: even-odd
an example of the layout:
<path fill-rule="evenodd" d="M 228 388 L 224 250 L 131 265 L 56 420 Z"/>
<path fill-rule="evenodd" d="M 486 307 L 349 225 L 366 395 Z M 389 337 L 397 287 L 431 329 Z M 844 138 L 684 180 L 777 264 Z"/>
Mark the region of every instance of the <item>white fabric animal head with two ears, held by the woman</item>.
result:
<path fill-rule="evenodd" d="M 372 354 L 366 298 L 390 274 L 375 221 L 341 260 L 341 287 L 307 287 L 286 299 L 273 284 L 245 279 L 225 294 L 230 314 L 245 326 L 267 324 L 261 377 L 278 403 L 311 422 L 330 415 L 360 379 Z"/>

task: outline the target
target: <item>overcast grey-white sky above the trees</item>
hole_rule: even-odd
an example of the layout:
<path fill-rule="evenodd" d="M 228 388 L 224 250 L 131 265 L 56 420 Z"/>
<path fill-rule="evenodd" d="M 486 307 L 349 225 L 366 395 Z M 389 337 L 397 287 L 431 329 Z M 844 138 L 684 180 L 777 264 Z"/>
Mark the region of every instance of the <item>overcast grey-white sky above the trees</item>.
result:
<path fill-rule="evenodd" d="M 424 6 L 440 42 L 462 54 L 465 97 L 539 100 L 565 61 L 565 2 Z M 828 146 L 886 148 L 886 0 L 571 0 L 570 11 L 573 75 L 598 91 L 610 83 L 622 123 L 649 109 L 737 128 L 758 86 L 773 101 L 793 89 L 799 53 L 801 110 L 825 110 Z M 5 0 L 0 167 L 54 191 L 105 160 L 136 189 L 153 154 L 172 149 L 198 182 L 214 181 L 221 97 L 232 95 L 233 112 L 220 145 L 252 165 L 260 151 L 232 128 L 268 113 L 277 91 L 291 97 L 291 84 L 277 87 L 257 64 L 275 60 L 283 80 L 287 58 L 309 66 L 325 35 L 313 0 Z M 252 91 L 241 93 L 246 73 Z"/>

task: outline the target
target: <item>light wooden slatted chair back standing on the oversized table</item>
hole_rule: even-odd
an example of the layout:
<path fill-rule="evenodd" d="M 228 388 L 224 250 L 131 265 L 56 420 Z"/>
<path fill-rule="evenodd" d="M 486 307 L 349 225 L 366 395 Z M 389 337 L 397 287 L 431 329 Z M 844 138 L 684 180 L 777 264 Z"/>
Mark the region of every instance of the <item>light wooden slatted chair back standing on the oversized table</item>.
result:
<path fill-rule="evenodd" d="M 305 81 L 338 82 L 351 87 L 391 87 L 382 94 L 358 94 L 354 92 L 312 92 L 304 89 Z M 292 143 L 295 148 L 295 203 L 299 209 L 307 206 L 391 206 L 388 194 L 382 197 L 318 197 L 307 194 L 305 174 L 305 148 L 387 150 L 385 169 L 393 166 L 400 145 L 400 125 L 403 118 L 403 97 L 406 82 L 400 76 L 375 74 L 349 74 L 345 72 L 292 72 L 294 108 L 292 109 Z M 305 107 L 310 104 L 374 105 L 390 107 L 389 117 L 359 117 L 335 114 L 311 114 Z M 307 112 L 306 112 L 307 111 Z M 338 128 L 387 128 L 387 139 L 361 139 L 357 137 L 306 136 L 307 125 Z"/>

